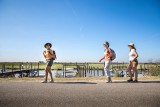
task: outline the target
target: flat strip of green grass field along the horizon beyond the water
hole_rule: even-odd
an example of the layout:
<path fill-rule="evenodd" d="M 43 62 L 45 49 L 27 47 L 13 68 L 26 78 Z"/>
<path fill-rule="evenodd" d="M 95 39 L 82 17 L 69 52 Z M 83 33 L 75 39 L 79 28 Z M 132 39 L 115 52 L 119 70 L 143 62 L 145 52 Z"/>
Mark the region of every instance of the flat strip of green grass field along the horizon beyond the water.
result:
<path fill-rule="evenodd" d="M 5 64 L 5 67 L 6 67 L 6 69 L 11 69 L 12 68 L 12 66 L 13 66 L 13 68 L 15 68 L 15 69 L 20 69 L 20 64 L 23 64 L 23 66 L 24 66 L 24 69 L 25 68 L 31 68 L 31 66 L 32 66 L 32 68 L 35 68 L 35 69 L 37 69 L 38 68 L 38 63 L 37 62 L 29 62 L 29 63 L 25 63 L 25 62 L 0 62 L 0 69 L 2 69 L 2 66 L 3 66 L 3 64 Z M 67 63 L 67 64 L 69 64 L 69 63 Z M 76 64 L 76 63 L 71 63 L 71 64 Z M 82 63 L 80 63 L 80 64 L 82 64 Z M 85 64 L 85 63 L 84 63 Z M 159 66 L 160 67 L 160 63 L 146 63 L 146 64 L 144 64 L 144 63 L 140 63 L 139 65 L 138 65 L 138 69 L 141 69 L 141 67 L 142 67 L 142 69 L 144 69 L 144 65 L 145 65 L 145 68 L 156 68 L 157 66 Z M 39 69 L 44 69 L 45 68 L 45 63 L 39 63 Z M 95 69 L 103 69 L 103 67 L 104 67 L 104 63 L 88 63 L 88 66 L 89 67 L 92 67 L 92 68 L 95 68 Z M 112 63 L 111 64 L 111 67 L 118 67 L 118 66 L 128 66 L 128 63 Z M 67 67 L 69 67 L 69 68 L 76 68 L 76 66 L 67 66 Z M 54 65 L 52 66 L 52 69 L 63 69 L 63 63 L 54 63 Z"/>

